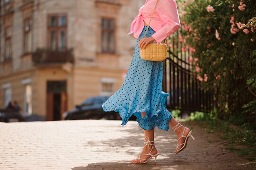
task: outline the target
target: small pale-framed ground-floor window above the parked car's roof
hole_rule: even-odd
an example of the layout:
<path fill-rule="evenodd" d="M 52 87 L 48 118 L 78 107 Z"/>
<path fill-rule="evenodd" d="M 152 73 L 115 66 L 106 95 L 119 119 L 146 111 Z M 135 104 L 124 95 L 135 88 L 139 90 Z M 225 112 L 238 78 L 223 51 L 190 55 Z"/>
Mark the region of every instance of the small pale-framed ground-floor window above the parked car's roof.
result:
<path fill-rule="evenodd" d="M 110 96 L 115 92 L 115 78 L 101 78 L 100 94 Z"/>

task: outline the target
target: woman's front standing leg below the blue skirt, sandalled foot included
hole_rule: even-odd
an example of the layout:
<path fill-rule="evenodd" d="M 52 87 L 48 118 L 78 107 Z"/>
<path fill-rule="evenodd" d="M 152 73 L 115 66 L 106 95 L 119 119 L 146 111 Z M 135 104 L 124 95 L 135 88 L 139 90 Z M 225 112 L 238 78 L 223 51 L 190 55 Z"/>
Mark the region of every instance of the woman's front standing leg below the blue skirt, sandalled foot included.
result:
<path fill-rule="evenodd" d="M 143 118 L 144 116 L 146 116 L 146 112 L 141 112 L 141 117 Z M 153 129 L 151 129 L 151 130 L 144 130 L 144 136 L 145 136 L 145 137 L 148 136 L 149 139 L 150 139 L 150 141 L 154 141 L 154 132 L 155 132 L 155 128 L 153 128 Z M 145 140 L 147 140 L 147 139 L 145 138 Z M 154 142 L 151 142 L 151 144 L 154 145 Z M 148 153 L 150 153 L 150 150 L 151 150 L 151 148 L 152 148 L 152 145 L 151 145 L 151 144 L 146 145 L 146 146 L 143 148 L 143 151 L 142 151 L 141 154 L 148 154 Z M 156 149 L 156 147 L 154 147 L 154 148 L 152 149 L 151 154 L 152 154 L 152 155 L 157 154 L 157 149 Z M 138 157 L 138 158 L 139 158 L 139 157 Z M 143 158 L 143 159 L 148 159 L 148 158 L 150 158 L 150 155 L 141 156 L 141 158 Z M 144 162 L 144 161 L 146 161 L 146 160 L 141 160 L 141 162 Z M 133 162 L 133 163 L 140 163 L 140 160 L 139 160 L 139 159 L 134 159 L 134 160 L 132 160 L 131 162 Z"/>

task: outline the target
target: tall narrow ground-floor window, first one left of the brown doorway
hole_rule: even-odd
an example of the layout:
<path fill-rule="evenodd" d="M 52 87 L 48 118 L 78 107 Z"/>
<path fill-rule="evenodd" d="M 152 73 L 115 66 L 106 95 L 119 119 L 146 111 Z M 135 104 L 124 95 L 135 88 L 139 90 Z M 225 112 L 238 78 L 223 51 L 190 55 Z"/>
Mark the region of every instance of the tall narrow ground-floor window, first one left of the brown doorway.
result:
<path fill-rule="evenodd" d="M 25 85 L 24 113 L 26 116 L 32 115 L 32 86 L 30 84 Z"/>

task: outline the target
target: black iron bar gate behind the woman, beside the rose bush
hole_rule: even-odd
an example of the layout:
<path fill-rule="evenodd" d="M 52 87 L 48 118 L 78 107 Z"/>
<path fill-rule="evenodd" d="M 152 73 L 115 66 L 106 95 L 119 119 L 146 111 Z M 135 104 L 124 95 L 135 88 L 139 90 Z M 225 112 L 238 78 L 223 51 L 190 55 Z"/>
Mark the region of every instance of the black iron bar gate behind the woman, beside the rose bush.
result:
<path fill-rule="evenodd" d="M 182 28 L 168 37 L 168 57 L 163 62 L 162 90 L 170 95 L 166 107 L 171 110 L 181 110 L 181 113 L 192 111 L 210 111 L 213 109 L 213 93 L 200 88 L 200 81 L 191 72 L 189 64 L 191 51 L 182 49 L 184 42 L 179 35 Z"/>

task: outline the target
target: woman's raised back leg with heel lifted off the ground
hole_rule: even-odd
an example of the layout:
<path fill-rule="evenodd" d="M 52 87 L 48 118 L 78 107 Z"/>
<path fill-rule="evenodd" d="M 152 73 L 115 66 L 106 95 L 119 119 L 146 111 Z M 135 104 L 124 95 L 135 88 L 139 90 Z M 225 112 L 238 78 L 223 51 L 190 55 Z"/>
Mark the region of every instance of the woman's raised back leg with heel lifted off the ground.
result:
<path fill-rule="evenodd" d="M 176 120 L 174 117 L 172 117 L 171 120 L 169 121 L 169 127 L 173 128 L 173 127 L 175 127 L 175 125 L 177 125 L 177 124 L 178 124 L 177 120 Z M 179 125 L 179 126 L 180 126 L 180 125 Z M 185 127 L 182 126 L 182 127 L 179 127 L 179 128 L 175 131 L 176 134 L 177 134 L 177 138 L 180 138 L 180 137 L 182 136 L 184 129 L 185 129 Z M 184 136 L 187 136 L 189 132 L 190 132 L 190 129 L 186 127 L 185 132 L 184 132 Z M 185 137 L 182 137 L 180 140 L 178 140 L 178 145 L 179 145 L 179 144 L 183 144 L 184 142 L 185 142 Z M 183 145 L 180 145 L 180 146 L 178 146 L 178 148 L 180 149 L 182 146 L 183 146 Z M 176 152 L 177 152 L 177 149 L 175 150 L 175 153 L 176 153 Z"/>

